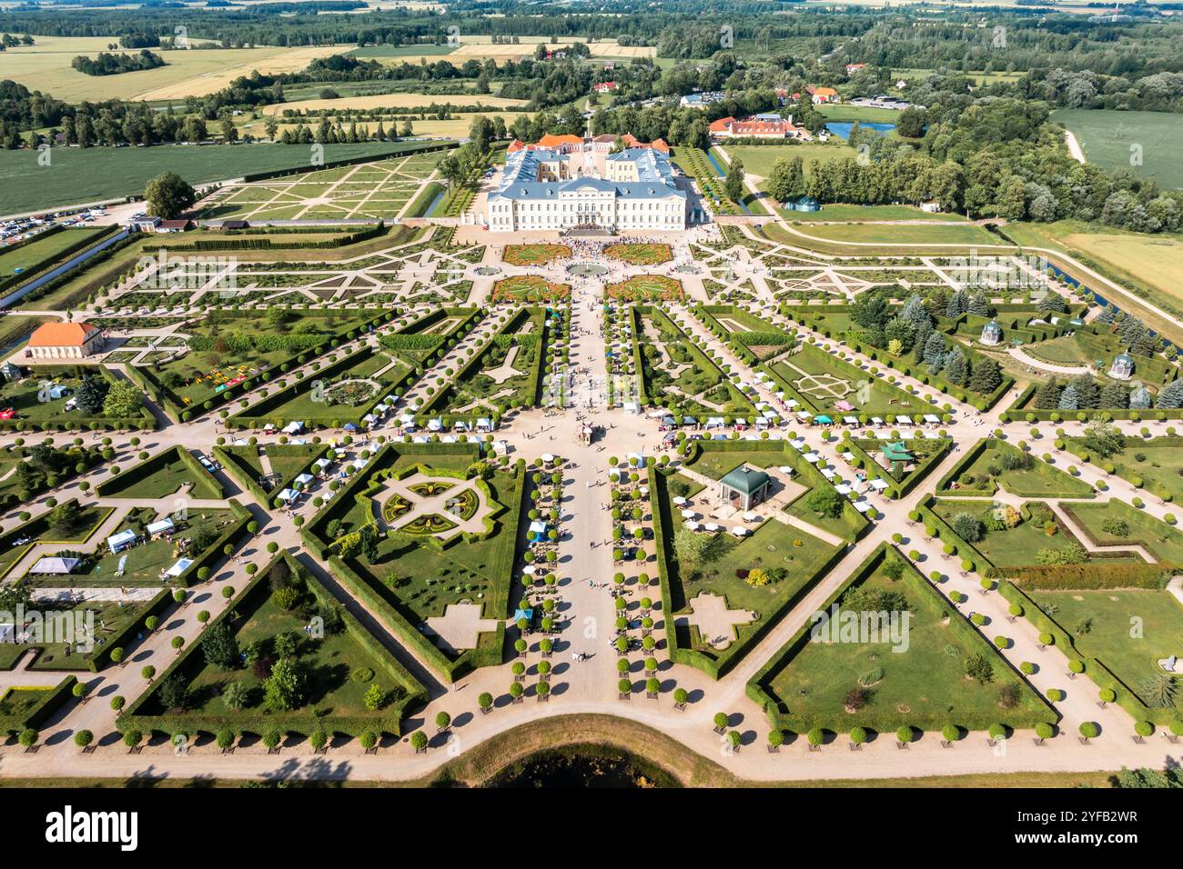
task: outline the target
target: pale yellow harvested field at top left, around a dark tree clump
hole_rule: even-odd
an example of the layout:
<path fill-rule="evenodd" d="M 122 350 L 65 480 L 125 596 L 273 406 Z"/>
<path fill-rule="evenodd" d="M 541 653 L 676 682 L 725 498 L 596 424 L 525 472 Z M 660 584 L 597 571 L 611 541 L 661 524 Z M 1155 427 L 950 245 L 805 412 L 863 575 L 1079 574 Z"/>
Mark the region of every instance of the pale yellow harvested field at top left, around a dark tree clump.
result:
<path fill-rule="evenodd" d="M 78 54 L 93 57 L 117 41 L 116 37 L 37 37 L 37 45 L 5 52 L 5 78 L 57 99 L 183 99 L 221 90 L 240 76 L 296 72 L 318 57 L 338 54 L 348 46 L 317 45 L 299 48 L 156 50 L 168 66 L 88 76 L 70 66 Z"/>

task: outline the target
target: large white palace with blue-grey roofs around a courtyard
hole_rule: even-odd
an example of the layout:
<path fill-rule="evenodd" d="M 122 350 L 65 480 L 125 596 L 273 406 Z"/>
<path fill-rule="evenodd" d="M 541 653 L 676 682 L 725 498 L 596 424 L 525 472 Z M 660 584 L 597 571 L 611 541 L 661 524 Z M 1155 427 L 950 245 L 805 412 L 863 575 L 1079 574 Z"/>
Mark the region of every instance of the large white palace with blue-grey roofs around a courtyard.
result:
<path fill-rule="evenodd" d="M 678 188 L 670 148 L 661 140 L 544 136 L 513 142 L 498 189 L 489 195 L 490 232 L 612 232 L 686 228 L 687 196 Z"/>

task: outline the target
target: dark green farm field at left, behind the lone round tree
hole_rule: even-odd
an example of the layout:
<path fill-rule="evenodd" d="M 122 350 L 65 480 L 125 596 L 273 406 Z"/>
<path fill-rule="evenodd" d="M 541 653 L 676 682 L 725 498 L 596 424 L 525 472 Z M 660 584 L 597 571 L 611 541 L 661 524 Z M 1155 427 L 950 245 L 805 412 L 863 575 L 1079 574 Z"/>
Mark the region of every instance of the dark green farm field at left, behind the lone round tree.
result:
<path fill-rule="evenodd" d="M 405 147 L 414 145 L 330 144 L 324 160 L 380 157 Z M 149 179 L 169 169 L 200 184 L 308 166 L 308 145 L 283 144 L 54 148 L 52 155 L 52 166 L 41 168 L 28 151 L 0 151 L 0 214 L 141 195 Z"/>

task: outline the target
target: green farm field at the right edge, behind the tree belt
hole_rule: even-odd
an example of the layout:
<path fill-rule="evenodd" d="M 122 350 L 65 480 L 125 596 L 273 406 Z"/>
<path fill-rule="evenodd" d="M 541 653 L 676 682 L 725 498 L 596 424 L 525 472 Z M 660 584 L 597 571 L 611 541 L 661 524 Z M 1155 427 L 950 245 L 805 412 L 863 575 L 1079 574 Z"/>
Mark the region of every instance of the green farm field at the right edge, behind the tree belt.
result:
<path fill-rule="evenodd" d="M 1177 160 L 1183 117 L 1159 111 L 1056 109 L 1052 121 L 1072 130 L 1090 163 L 1106 171 L 1130 169 L 1161 187 L 1183 187 L 1183 164 Z M 1132 166 L 1130 148 L 1142 147 L 1142 164 Z"/>

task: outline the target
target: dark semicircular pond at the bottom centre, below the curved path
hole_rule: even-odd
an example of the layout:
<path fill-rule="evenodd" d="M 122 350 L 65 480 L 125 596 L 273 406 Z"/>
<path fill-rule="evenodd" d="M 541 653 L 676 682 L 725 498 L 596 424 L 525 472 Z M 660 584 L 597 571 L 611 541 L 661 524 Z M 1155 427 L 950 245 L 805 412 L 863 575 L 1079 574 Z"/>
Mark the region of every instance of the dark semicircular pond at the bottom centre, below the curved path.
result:
<path fill-rule="evenodd" d="M 679 787 L 644 758 L 603 745 L 574 745 L 522 758 L 493 776 L 486 787 Z"/>

